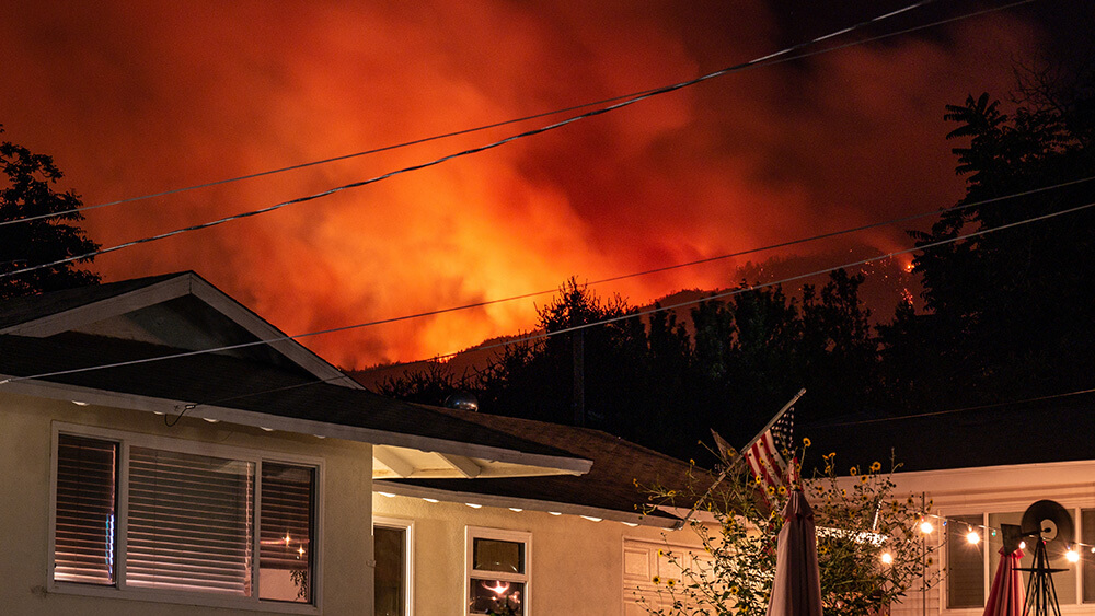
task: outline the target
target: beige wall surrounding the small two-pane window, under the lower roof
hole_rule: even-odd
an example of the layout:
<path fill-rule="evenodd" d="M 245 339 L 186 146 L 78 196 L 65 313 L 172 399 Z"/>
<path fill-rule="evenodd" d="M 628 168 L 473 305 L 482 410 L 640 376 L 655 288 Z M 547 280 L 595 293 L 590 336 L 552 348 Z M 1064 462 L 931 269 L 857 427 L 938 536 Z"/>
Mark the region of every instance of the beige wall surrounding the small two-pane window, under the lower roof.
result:
<path fill-rule="evenodd" d="M 414 497 L 373 497 L 377 516 L 414 522 L 414 614 L 462 616 L 465 585 L 465 528 L 531 533 L 528 616 L 621 616 L 624 598 L 636 584 L 624 578 L 624 545 L 696 546 L 691 531 L 630 527 L 592 522 L 578 515 L 504 508 L 472 509 L 462 503 L 428 502 Z M 642 557 L 639 557 L 642 558 Z M 631 560 L 633 577 L 642 576 Z M 656 568 L 657 563 L 653 563 Z M 637 578 L 635 578 L 637 580 Z M 627 614 L 635 612 L 634 606 Z M 645 612 L 642 612 L 645 614 Z"/>

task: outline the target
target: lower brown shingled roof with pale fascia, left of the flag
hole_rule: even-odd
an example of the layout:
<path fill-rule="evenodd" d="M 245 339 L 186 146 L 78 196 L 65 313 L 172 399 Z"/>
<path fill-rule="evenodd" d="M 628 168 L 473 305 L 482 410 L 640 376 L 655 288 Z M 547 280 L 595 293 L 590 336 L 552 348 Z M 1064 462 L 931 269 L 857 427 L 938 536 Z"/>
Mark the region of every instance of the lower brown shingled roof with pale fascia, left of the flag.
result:
<path fill-rule="evenodd" d="M 661 511 L 644 516 L 639 508 L 648 502 L 647 489 L 656 485 L 680 488 L 688 484 L 692 468 L 684 462 L 600 430 L 447 408 L 440 411 L 542 445 L 566 448 L 591 460 L 593 466 L 581 477 L 385 480 L 377 481 L 374 490 L 662 527 L 678 522 L 678 518 Z"/>

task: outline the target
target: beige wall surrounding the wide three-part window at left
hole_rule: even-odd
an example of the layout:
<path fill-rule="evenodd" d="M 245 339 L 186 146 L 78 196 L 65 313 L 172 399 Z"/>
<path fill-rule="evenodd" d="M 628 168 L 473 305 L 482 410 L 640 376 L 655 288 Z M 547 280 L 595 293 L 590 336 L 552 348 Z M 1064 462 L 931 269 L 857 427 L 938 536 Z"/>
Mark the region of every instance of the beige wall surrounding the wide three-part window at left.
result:
<path fill-rule="evenodd" d="M 54 422 L 123 430 L 322 460 L 319 601 L 311 614 L 371 615 L 372 449 L 365 443 L 265 432 L 184 417 L 174 428 L 151 412 L 77 406 L 0 392 L 0 613 L 20 616 L 257 614 L 47 591 Z M 425 614 L 425 613 L 424 613 Z"/>

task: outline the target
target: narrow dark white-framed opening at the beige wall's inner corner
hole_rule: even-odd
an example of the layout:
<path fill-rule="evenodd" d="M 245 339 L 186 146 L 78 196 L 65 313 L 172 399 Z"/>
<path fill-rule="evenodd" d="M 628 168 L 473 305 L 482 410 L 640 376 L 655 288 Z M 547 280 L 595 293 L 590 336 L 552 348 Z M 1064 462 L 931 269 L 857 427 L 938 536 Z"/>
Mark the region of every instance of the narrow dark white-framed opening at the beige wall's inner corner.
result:
<path fill-rule="evenodd" d="M 411 583 L 412 531 L 408 520 L 373 519 L 374 616 L 410 616 L 414 612 L 411 607 L 414 588 Z"/>

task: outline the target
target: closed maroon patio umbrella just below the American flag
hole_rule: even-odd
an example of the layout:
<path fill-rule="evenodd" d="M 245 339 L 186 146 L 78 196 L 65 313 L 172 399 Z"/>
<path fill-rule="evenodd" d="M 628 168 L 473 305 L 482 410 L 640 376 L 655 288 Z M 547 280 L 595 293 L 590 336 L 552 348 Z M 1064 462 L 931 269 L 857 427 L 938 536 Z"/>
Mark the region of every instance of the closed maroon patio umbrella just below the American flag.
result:
<path fill-rule="evenodd" d="M 791 493 L 783 508 L 783 519 L 768 616 L 821 616 L 814 510 L 802 490 Z"/>

